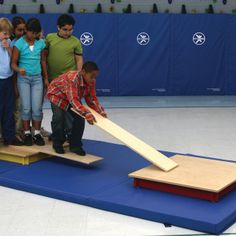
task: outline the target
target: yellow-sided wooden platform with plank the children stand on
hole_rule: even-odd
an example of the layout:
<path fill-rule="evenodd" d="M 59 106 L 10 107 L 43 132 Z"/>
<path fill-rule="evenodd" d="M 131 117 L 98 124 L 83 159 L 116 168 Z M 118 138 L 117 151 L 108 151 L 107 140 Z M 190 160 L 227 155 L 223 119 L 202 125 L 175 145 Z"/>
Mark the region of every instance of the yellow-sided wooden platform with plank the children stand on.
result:
<path fill-rule="evenodd" d="M 86 165 L 93 164 L 102 160 L 102 157 L 87 154 L 86 156 L 79 156 L 75 153 L 69 152 L 68 145 L 65 147 L 65 154 L 58 154 L 54 152 L 51 143 L 47 143 L 45 146 L 1 146 L 0 147 L 0 160 L 20 163 L 22 165 L 28 165 L 32 162 L 42 160 L 48 157 L 64 158 Z"/>

